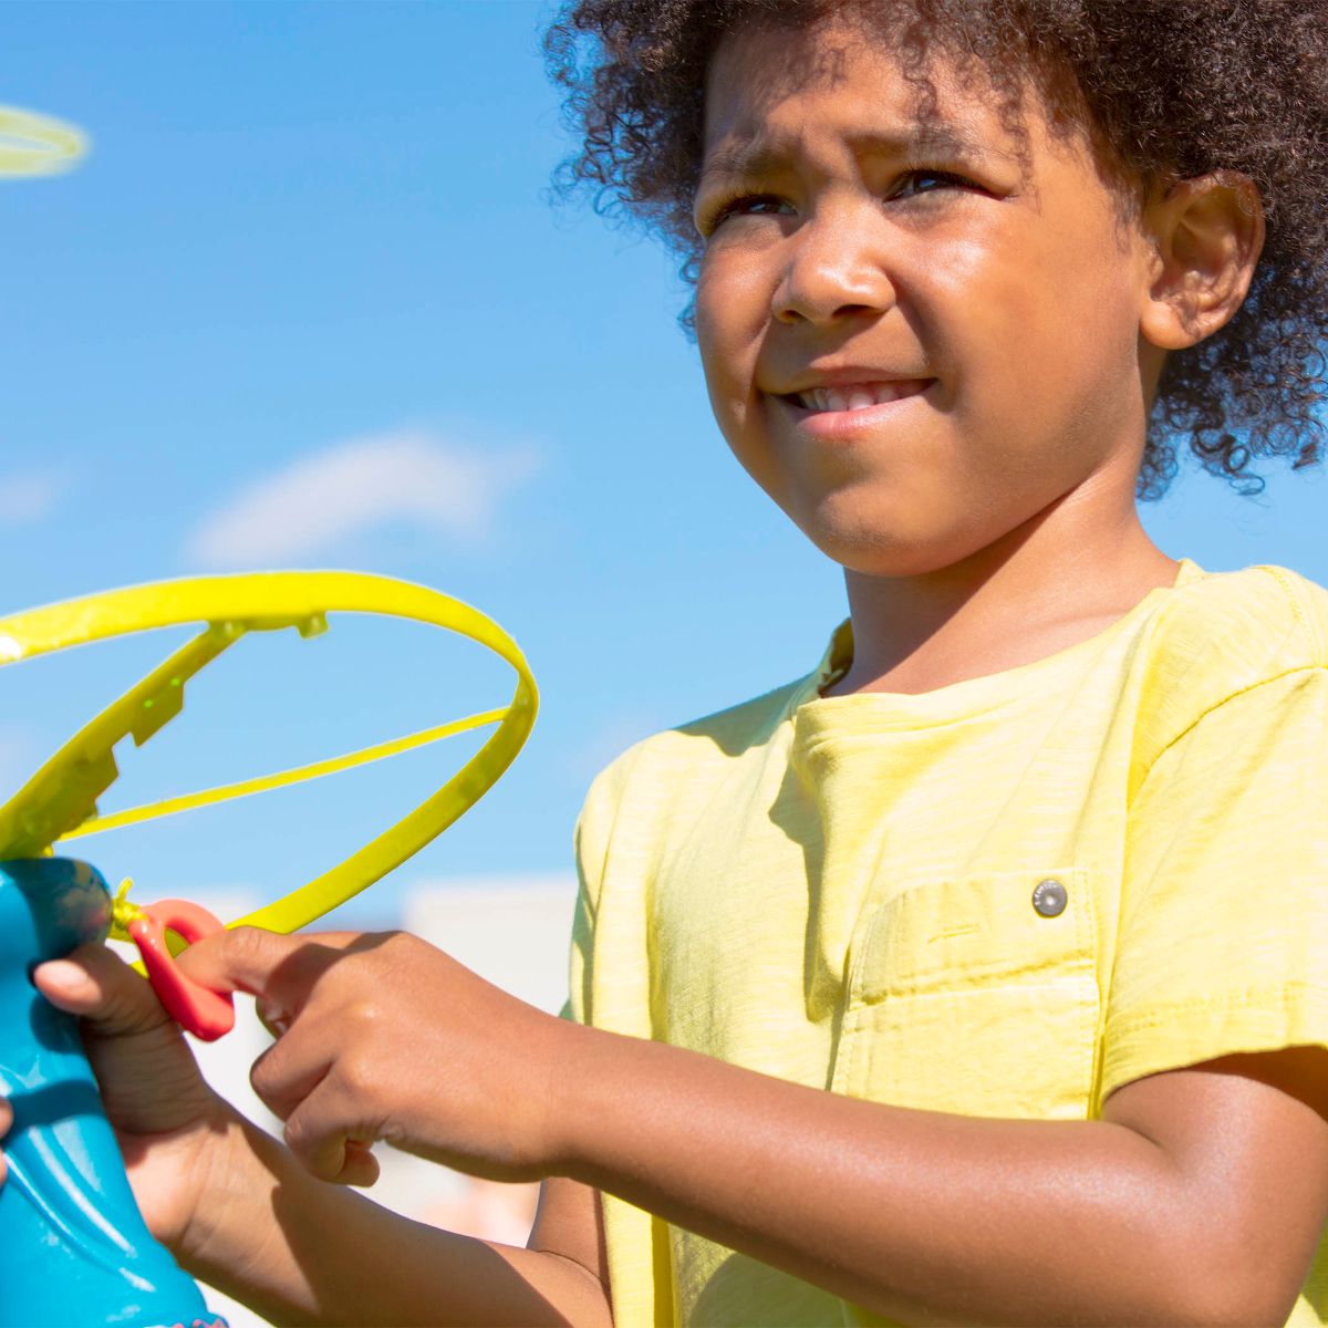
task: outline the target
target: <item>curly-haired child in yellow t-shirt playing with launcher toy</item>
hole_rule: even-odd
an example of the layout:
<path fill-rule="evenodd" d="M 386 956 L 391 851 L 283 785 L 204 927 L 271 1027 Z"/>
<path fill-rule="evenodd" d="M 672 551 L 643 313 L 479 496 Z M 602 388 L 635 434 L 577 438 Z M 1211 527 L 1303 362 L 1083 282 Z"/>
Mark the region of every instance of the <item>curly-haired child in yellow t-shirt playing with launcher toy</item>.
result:
<path fill-rule="evenodd" d="M 604 46 L 576 170 L 695 206 L 716 418 L 851 610 L 595 781 L 571 1017 L 405 935 L 206 940 L 279 1035 L 283 1146 L 113 955 L 37 972 L 153 1230 L 278 1321 L 1328 1321 L 1328 592 L 1178 563 L 1134 505 L 1163 392 L 1303 406 L 1316 458 L 1328 36 L 1308 0 L 916 8 L 555 29 L 570 84 Z M 529 1247 L 327 1183 L 376 1139 L 540 1178 Z"/>

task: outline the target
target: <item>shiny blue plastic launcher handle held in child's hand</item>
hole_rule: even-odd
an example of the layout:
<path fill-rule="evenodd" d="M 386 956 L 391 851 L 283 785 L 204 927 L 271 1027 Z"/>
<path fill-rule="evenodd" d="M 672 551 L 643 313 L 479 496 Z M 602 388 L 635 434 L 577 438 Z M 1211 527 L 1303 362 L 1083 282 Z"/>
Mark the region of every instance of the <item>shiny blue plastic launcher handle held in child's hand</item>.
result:
<path fill-rule="evenodd" d="M 134 1203 L 78 1021 L 32 985 L 39 963 L 104 942 L 110 895 L 69 858 L 0 862 L 0 1094 L 15 1113 L 0 1185 L 3 1328 L 214 1328 Z"/>

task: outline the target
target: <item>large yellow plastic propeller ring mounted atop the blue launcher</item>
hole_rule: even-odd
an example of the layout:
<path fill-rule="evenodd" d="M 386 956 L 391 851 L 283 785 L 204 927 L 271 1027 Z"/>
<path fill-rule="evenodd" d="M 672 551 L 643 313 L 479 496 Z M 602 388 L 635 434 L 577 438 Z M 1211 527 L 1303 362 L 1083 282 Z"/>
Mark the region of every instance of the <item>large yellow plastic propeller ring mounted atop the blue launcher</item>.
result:
<path fill-rule="evenodd" d="M 295 628 L 301 636 L 327 631 L 329 612 L 384 614 L 444 627 L 487 647 L 517 671 L 511 703 L 422 733 L 317 761 L 278 774 L 169 798 L 113 815 L 97 799 L 114 782 L 114 746 L 133 736 L 142 746 L 179 713 L 185 683 L 230 649 L 246 632 Z M 491 619 L 440 591 L 367 572 L 256 572 L 154 582 L 82 599 L 46 604 L 0 619 L 0 665 L 90 641 L 159 627 L 203 623 L 205 629 L 142 681 L 94 716 L 3 806 L 0 859 L 49 854 L 57 841 L 187 811 L 208 803 L 348 770 L 367 761 L 436 742 L 465 729 L 498 728 L 470 761 L 433 797 L 394 826 L 308 884 L 228 927 L 291 932 L 345 903 L 441 834 L 498 781 L 521 750 L 539 705 L 535 680 L 515 641 Z M 112 928 L 125 940 L 120 916 Z"/>

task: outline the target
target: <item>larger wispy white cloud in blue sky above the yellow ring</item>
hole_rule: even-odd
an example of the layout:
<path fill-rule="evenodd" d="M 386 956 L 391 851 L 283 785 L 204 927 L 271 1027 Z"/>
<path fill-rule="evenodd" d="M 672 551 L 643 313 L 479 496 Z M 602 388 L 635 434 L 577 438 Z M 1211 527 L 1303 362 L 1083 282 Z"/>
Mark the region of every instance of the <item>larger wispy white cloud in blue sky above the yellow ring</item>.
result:
<path fill-rule="evenodd" d="M 467 450 L 425 430 L 352 438 L 240 493 L 194 531 L 187 552 L 208 567 L 280 562 L 398 522 L 482 539 L 501 499 L 538 469 L 527 446 Z"/>

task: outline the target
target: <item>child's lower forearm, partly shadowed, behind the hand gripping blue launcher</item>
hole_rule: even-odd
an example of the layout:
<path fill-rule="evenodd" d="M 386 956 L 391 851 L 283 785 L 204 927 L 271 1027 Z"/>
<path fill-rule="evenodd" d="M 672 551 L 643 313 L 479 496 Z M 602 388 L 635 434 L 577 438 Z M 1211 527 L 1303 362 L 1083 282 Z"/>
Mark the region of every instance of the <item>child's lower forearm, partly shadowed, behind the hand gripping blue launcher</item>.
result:
<path fill-rule="evenodd" d="M 280 1324 L 611 1325 L 603 1289 L 556 1255 L 440 1231 L 317 1181 L 234 1117 L 177 1259 Z"/>

